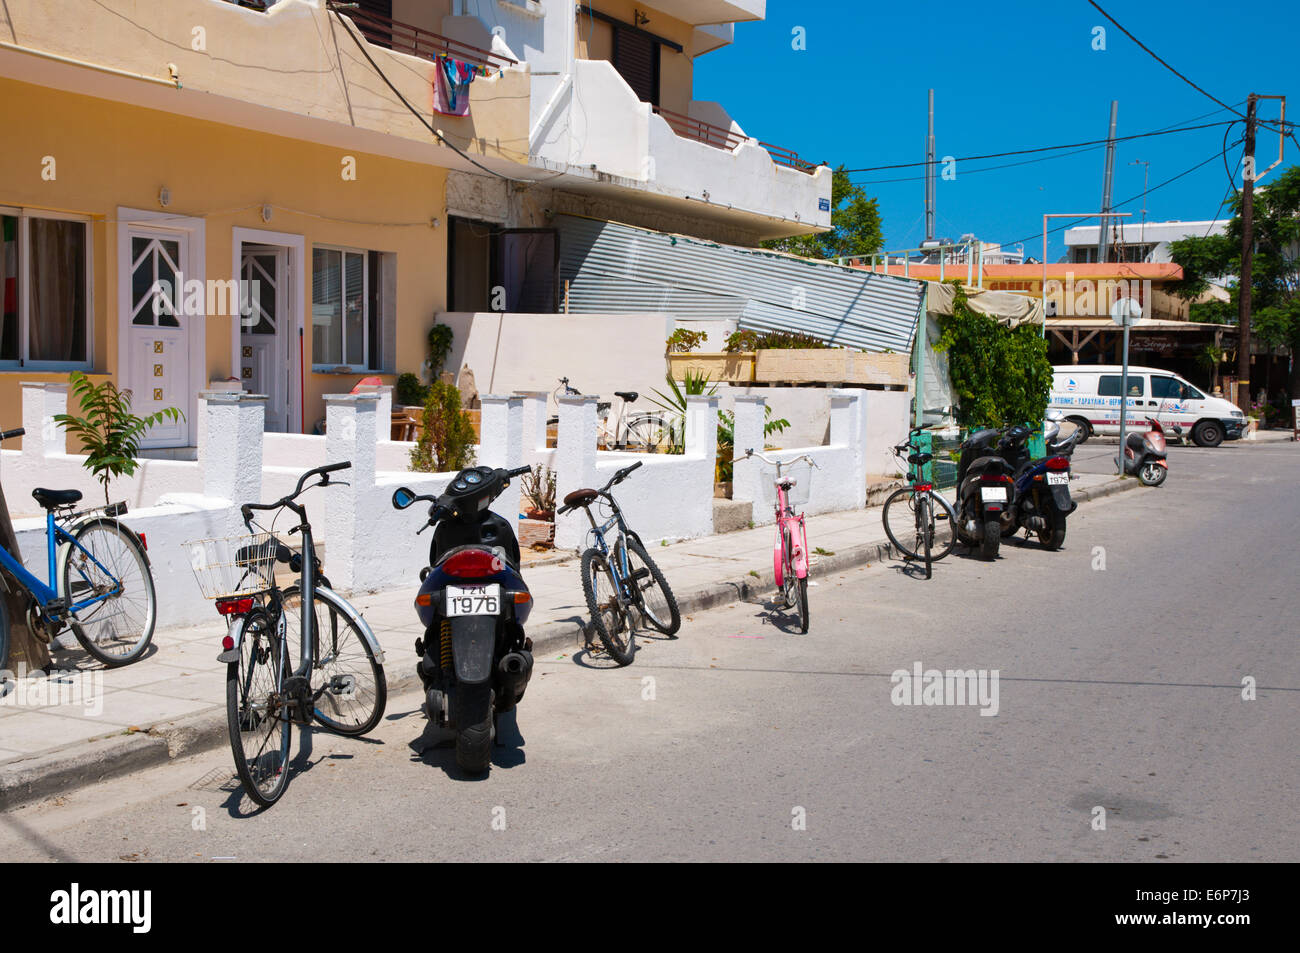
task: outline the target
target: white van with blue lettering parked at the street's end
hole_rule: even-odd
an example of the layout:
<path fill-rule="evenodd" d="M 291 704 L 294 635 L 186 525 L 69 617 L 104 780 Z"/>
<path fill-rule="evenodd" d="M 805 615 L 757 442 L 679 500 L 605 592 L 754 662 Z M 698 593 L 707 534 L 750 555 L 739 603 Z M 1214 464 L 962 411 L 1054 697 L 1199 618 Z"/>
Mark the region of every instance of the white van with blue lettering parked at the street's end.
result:
<path fill-rule="evenodd" d="M 1119 434 L 1119 364 L 1062 364 L 1052 368 L 1049 410 L 1093 433 Z M 1245 430 L 1242 410 L 1221 397 L 1206 397 L 1171 371 L 1128 365 L 1130 425 L 1156 417 L 1162 426 L 1178 424 L 1202 447 L 1238 439 Z"/>

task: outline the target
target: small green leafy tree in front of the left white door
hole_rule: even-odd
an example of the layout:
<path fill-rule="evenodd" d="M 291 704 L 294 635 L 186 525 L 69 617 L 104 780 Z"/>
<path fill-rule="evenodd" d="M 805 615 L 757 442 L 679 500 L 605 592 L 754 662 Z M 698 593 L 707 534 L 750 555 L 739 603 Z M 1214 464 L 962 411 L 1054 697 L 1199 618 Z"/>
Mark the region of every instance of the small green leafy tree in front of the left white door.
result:
<path fill-rule="evenodd" d="M 164 420 L 182 420 L 185 415 L 168 407 L 147 417 L 131 413 L 131 391 L 118 390 L 112 381 L 92 382 L 74 371 L 69 377 L 73 394 L 81 403 L 82 416 L 56 413 L 55 423 L 77 437 L 86 450 L 86 469 L 104 486 L 104 504 L 108 504 L 108 484 L 116 476 L 130 476 L 139 467 L 135 459 L 146 432 Z"/>

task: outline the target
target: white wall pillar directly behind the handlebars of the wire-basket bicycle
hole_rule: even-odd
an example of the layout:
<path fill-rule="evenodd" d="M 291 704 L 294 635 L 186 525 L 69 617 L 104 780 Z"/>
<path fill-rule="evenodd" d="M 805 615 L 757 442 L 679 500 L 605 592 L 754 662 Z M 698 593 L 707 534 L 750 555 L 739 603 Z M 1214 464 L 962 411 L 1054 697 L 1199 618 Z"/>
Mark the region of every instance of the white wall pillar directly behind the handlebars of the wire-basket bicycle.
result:
<path fill-rule="evenodd" d="M 385 541 L 377 510 L 390 503 L 374 488 L 378 407 L 374 393 L 325 394 L 325 460 L 352 465 L 330 475 L 348 485 L 321 491 L 317 512 L 324 510 L 325 519 L 313 528 L 324 525 L 326 573 L 343 590 L 372 589 L 382 580 Z"/>

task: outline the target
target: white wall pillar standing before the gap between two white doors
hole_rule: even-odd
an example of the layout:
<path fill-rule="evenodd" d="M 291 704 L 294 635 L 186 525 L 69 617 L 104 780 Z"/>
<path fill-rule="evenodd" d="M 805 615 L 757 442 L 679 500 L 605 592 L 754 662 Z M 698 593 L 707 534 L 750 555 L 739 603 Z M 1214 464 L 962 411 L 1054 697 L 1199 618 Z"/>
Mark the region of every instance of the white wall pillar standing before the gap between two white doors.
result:
<path fill-rule="evenodd" d="M 266 398 L 203 391 L 207 436 L 199 455 L 203 495 L 231 504 L 261 502 L 261 445 Z"/>

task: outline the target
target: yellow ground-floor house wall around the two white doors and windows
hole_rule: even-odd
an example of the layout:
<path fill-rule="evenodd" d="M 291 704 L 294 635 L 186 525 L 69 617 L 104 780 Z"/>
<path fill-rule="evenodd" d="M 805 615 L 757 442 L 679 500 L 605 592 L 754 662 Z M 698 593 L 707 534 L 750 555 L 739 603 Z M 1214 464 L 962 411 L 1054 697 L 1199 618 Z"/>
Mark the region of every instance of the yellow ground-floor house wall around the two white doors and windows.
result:
<path fill-rule="evenodd" d="M 118 205 L 161 211 L 205 222 L 208 280 L 230 280 L 233 229 L 300 234 L 307 276 L 303 316 L 307 348 L 306 421 L 324 416 L 322 394 L 351 390 L 360 373 L 309 371 L 311 265 L 316 243 L 396 255 L 395 367 L 384 374 L 419 373 L 433 316 L 446 309 L 446 169 L 254 133 L 235 126 L 142 109 L 122 103 L 0 79 L 0 205 L 86 215 L 94 218 L 94 371 L 118 376 Z M 343 156 L 356 160 L 355 181 L 342 176 Z M 43 157 L 56 178 L 42 178 Z M 272 207 L 269 222 L 261 207 Z M 438 218 L 439 228 L 430 226 Z M 207 377 L 239 376 L 231 368 L 231 317 L 204 321 Z M 191 346 L 194 342 L 191 332 Z M 296 351 L 296 343 L 291 342 Z M 0 428 L 22 424 L 21 381 L 62 381 L 65 373 L 0 371 Z M 195 382 L 191 382 L 195 384 Z M 196 389 L 207 380 L 196 382 Z M 296 429 L 291 421 L 290 429 Z"/>

